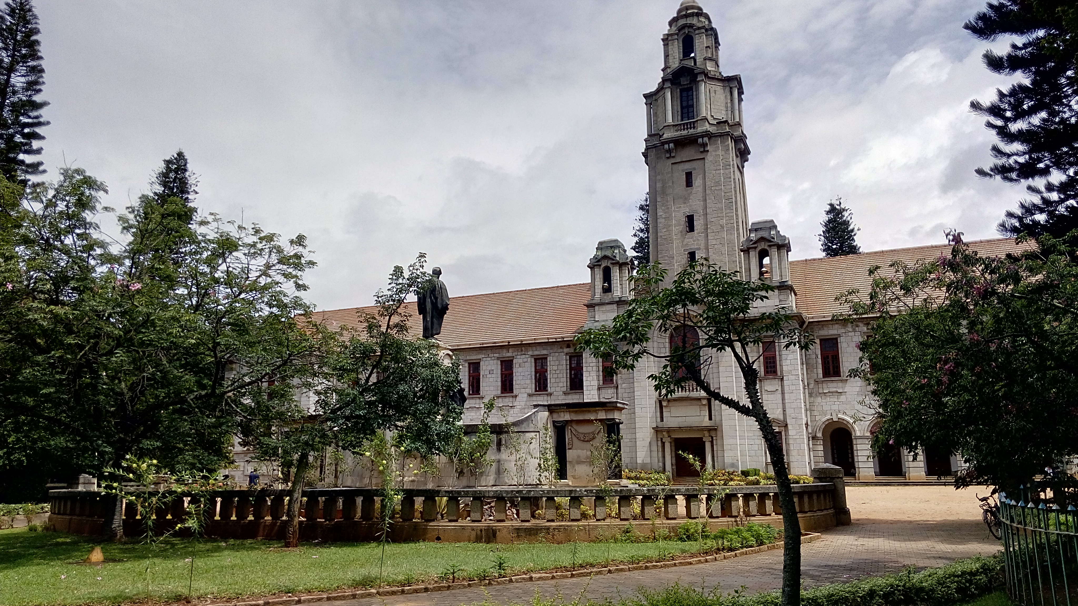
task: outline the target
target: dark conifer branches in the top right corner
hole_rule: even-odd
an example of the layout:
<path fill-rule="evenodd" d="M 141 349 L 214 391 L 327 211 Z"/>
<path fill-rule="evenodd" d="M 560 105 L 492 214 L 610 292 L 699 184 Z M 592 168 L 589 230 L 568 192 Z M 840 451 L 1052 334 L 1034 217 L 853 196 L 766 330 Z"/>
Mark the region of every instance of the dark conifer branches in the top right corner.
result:
<path fill-rule="evenodd" d="M 999 140 L 984 178 L 1026 183 L 1033 199 L 1019 202 L 999 223 L 1003 234 L 1066 235 L 1078 229 L 1078 6 L 1070 0 L 998 0 L 966 23 L 979 40 L 1017 37 L 1004 54 L 985 51 L 984 65 L 1021 74 L 989 104 L 972 100 Z"/>

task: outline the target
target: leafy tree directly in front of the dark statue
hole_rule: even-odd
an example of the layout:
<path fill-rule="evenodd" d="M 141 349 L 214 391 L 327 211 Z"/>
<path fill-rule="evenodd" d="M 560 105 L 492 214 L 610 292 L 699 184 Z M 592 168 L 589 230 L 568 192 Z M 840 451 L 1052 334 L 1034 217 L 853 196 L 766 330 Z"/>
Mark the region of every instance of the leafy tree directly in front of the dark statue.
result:
<path fill-rule="evenodd" d="M 240 436 L 264 460 L 292 472 L 287 543 L 299 543 L 300 495 L 313 453 L 329 446 L 360 451 L 379 432 L 395 433 L 404 452 L 420 456 L 448 453 L 460 431 L 464 390 L 457 361 L 446 363 L 437 345 L 414 339 L 404 311 L 409 295 L 427 285 L 419 256 L 407 270 L 398 265 L 386 290 L 375 294 L 377 312 L 359 318 L 358 327 L 320 332 L 322 383 L 315 402 L 251 395 L 241 407 Z M 271 387 L 282 396 L 294 385 Z"/>

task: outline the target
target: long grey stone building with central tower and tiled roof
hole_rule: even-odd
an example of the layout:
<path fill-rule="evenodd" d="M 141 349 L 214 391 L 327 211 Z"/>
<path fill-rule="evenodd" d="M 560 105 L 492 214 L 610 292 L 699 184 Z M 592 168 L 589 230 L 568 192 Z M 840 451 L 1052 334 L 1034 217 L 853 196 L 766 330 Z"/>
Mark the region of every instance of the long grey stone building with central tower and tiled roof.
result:
<path fill-rule="evenodd" d="M 749 219 L 742 80 L 720 70 L 718 31 L 694 0 L 682 1 L 669 19 L 662 52 L 662 78 L 644 95 L 651 259 L 672 275 L 694 260 L 709 259 L 750 279 L 768 280 L 777 290 L 759 311 L 785 306 L 816 335 L 817 345 L 808 352 L 784 349 L 778 343 L 762 358 L 761 391 L 790 471 L 807 474 L 813 466 L 829 463 L 859 480 L 950 476 L 962 462 L 949 453 L 929 452 L 914 460 L 898 449 L 872 452 L 868 391 L 860 380 L 846 377 L 859 363 L 857 344 L 866 329 L 831 320 L 842 311 L 835 295 L 867 289 L 871 265 L 936 258 L 949 247 L 791 261 L 794 243 L 778 225 Z M 1009 239 L 972 246 L 990 254 L 1014 249 Z M 771 469 L 751 419 L 693 388 L 658 398 L 647 378 L 658 370 L 655 360 L 608 376 L 602 360 L 575 352 L 572 339 L 581 328 L 609 321 L 624 308 L 632 297 L 632 272 L 622 243 L 606 239 L 591 259 L 581 259 L 581 277 L 588 281 L 452 298 L 439 340 L 461 362 L 466 426 L 479 422 L 485 400 L 496 400 L 490 416 L 496 463 L 479 484 L 537 482 L 543 440 L 552 442 L 558 476 L 569 484 L 604 479 L 604 470 L 593 465 L 593 452 L 607 440 L 620 442 L 623 467 L 664 470 L 676 479 L 696 474 L 677 454 L 681 452 L 713 468 Z M 338 326 L 354 322 L 357 311 L 318 315 Z M 668 335 L 655 334 L 654 340 L 662 350 Z M 731 359 L 715 356 L 707 373 L 721 392 L 741 396 Z M 360 476 L 353 472 L 345 483 L 361 483 Z M 443 472 L 431 482 L 457 482 L 447 476 L 453 474 Z"/>

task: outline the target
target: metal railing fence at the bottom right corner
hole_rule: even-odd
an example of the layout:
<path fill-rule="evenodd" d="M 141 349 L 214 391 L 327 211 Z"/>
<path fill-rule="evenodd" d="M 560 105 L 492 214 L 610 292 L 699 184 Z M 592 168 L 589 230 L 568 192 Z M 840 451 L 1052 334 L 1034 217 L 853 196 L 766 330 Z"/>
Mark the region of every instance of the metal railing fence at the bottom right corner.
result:
<path fill-rule="evenodd" d="M 1007 593 L 1015 604 L 1078 606 L 1076 496 L 1047 485 L 999 494 Z"/>

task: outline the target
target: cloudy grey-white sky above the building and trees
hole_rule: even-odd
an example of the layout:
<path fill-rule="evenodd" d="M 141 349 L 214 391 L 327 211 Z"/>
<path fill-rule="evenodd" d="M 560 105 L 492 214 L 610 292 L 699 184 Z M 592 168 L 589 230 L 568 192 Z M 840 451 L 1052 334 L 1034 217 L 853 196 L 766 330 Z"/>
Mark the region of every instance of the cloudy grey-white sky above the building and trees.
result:
<path fill-rule="evenodd" d="M 982 0 L 702 3 L 745 83 L 750 217 L 794 258 L 835 196 L 866 250 L 995 236 L 1022 192 L 973 175 L 967 105 L 1005 84 L 962 29 Z M 308 236 L 320 308 L 418 251 L 453 294 L 584 281 L 597 240 L 631 245 L 677 4 L 38 0 L 44 160 L 122 208 L 182 148 L 204 212 Z"/>

